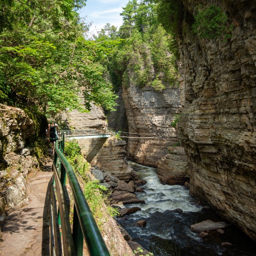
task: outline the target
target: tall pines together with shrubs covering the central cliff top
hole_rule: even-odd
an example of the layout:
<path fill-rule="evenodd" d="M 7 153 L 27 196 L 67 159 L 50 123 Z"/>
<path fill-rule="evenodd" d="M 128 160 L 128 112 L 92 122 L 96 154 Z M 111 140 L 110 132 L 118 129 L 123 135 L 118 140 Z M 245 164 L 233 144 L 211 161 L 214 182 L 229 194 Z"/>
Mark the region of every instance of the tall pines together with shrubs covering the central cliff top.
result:
<path fill-rule="evenodd" d="M 115 88 L 135 84 L 162 90 L 177 81 L 177 44 L 157 19 L 154 1 L 129 1 L 120 14 L 123 24 L 108 65 Z"/>

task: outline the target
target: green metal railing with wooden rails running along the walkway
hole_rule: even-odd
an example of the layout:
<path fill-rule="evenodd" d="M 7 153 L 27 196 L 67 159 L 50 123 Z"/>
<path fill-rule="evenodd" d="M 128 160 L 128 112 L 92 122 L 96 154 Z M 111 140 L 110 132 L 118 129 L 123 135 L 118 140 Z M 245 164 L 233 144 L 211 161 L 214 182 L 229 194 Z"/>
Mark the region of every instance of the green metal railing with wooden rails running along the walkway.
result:
<path fill-rule="evenodd" d="M 64 134 L 62 134 L 61 140 L 57 140 L 55 143 L 54 162 L 52 164 L 50 253 L 54 256 L 82 256 L 85 240 L 91 256 L 110 256 L 76 175 L 63 152 Z M 66 175 L 74 200 L 72 231 Z"/>

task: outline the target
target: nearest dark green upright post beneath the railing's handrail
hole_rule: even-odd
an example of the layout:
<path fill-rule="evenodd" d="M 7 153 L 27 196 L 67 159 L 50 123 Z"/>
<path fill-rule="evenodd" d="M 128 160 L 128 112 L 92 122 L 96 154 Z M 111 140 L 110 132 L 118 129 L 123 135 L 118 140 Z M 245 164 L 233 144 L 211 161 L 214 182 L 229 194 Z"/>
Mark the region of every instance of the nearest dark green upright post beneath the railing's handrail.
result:
<path fill-rule="evenodd" d="M 73 215 L 73 232 L 72 232 L 74 247 L 76 251 L 76 256 L 83 256 L 83 244 L 84 235 L 79 223 L 79 218 L 76 211 L 76 205 L 74 204 L 74 215 Z"/>

